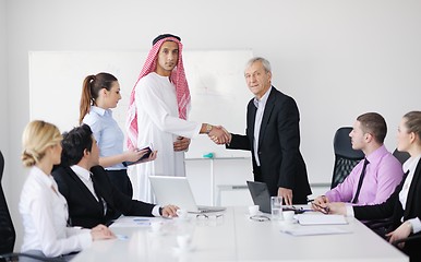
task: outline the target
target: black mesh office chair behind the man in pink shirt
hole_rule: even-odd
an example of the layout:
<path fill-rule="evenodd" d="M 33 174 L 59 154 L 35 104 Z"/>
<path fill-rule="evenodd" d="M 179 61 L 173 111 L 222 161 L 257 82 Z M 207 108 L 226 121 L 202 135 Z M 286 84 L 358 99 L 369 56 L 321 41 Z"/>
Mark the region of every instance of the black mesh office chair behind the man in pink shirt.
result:
<path fill-rule="evenodd" d="M 349 138 L 351 131 L 351 127 L 342 127 L 335 133 L 335 164 L 330 189 L 335 188 L 338 183 L 341 183 L 351 172 L 352 168 L 364 158 L 364 153 L 362 151 L 352 150 L 351 138 Z"/>

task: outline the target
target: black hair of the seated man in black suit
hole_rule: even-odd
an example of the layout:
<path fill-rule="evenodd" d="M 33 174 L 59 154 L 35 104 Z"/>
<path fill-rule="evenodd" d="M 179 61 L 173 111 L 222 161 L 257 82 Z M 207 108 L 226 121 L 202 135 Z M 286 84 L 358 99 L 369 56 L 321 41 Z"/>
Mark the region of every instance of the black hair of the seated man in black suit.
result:
<path fill-rule="evenodd" d="M 61 165 L 76 165 L 83 157 L 84 151 L 92 151 L 93 136 L 89 126 L 82 124 L 69 132 L 63 133 L 61 146 Z"/>

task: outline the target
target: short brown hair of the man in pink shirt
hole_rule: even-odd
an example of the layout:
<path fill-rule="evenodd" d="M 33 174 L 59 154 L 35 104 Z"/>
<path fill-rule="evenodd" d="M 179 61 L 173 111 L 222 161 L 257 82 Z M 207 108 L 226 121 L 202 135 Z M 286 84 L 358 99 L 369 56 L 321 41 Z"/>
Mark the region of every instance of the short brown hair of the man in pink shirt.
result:
<path fill-rule="evenodd" d="M 366 112 L 357 118 L 361 123 L 361 129 L 365 133 L 371 133 L 377 143 L 384 142 L 387 134 L 387 126 L 384 118 L 377 112 Z"/>

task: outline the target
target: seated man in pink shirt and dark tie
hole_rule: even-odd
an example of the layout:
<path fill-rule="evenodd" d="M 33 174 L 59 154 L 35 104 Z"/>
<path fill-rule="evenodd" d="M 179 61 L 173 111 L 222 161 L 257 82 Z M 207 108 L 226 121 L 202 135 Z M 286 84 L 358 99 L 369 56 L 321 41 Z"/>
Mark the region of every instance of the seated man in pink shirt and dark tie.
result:
<path fill-rule="evenodd" d="M 361 160 L 349 176 L 325 195 L 313 201 L 313 209 L 326 213 L 328 202 L 348 202 L 353 205 L 372 205 L 385 202 L 404 177 L 402 166 L 383 144 L 387 133 L 386 121 L 376 112 L 357 118 L 349 133 L 352 148 L 361 150 Z"/>

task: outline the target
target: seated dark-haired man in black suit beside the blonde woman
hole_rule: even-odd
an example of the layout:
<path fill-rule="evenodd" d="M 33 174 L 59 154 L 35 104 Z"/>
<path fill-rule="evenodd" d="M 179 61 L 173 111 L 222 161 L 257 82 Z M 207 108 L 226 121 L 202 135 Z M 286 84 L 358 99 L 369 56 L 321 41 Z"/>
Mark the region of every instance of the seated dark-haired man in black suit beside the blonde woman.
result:
<path fill-rule="evenodd" d="M 177 206 L 160 207 L 132 200 L 109 180 L 99 164 L 99 148 L 87 124 L 63 134 L 61 165 L 52 171 L 59 191 L 68 201 L 69 223 L 92 228 L 109 225 L 123 215 L 177 216 Z"/>

